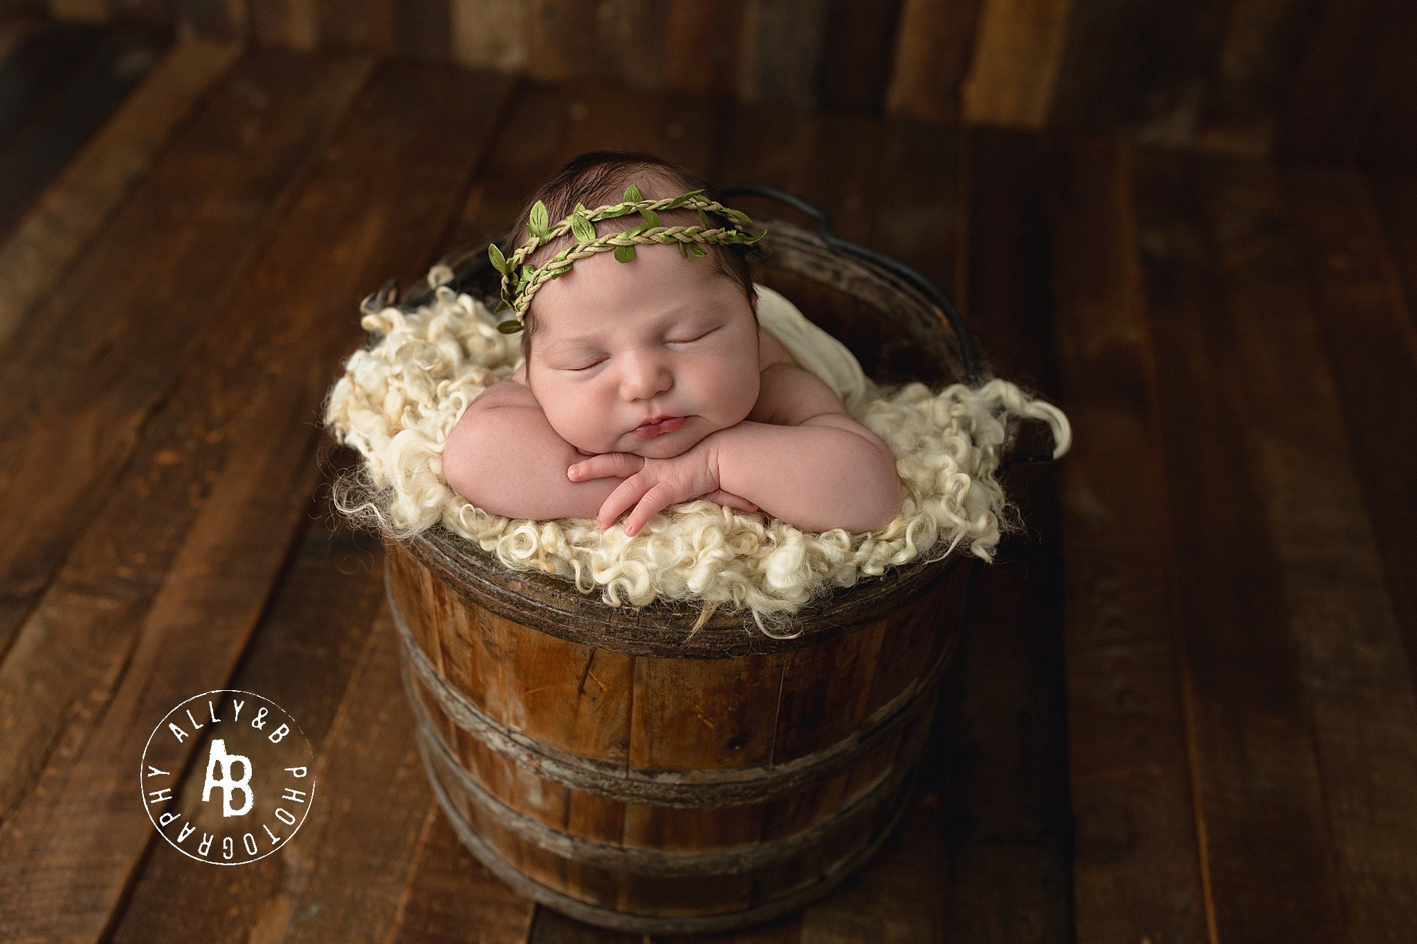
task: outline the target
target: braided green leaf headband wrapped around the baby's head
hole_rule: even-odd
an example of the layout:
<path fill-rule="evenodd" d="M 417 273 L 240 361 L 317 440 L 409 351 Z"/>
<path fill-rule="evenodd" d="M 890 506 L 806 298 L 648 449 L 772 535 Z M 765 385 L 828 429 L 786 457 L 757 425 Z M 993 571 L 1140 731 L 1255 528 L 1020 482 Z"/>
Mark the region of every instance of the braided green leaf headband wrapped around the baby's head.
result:
<path fill-rule="evenodd" d="M 493 267 L 502 273 L 502 304 L 497 306 L 497 311 L 510 310 L 516 318 L 507 318 L 497 324 L 497 330 L 503 334 L 516 334 L 523 327 L 523 320 L 526 318 L 527 306 L 531 304 L 531 296 L 537 290 L 558 276 L 564 276 L 571 270 L 571 265 L 577 259 L 585 259 L 587 256 L 594 256 L 597 252 L 615 252 L 616 262 L 631 262 L 635 259 L 635 243 L 645 242 L 674 242 L 679 243 L 679 252 L 684 259 L 691 259 L 694 256 L 707 256 L 708 251 L 703 248 L 703 243 L 717 243 L 720 246 L 730 243 L 757 243 L 767 235 L 767 229 L 757 235 L 750 235 L 745 229 L 740 228 L 740 224 L 751 224 L 752 219 L 747 214 L 738 212 L 737 209 L 730 209 L 723 204 L 707 200 L 703 197 L 701 190 L 691 190 L 687 194 L 680 194 L 679 197 L 670 197 L 667 200 L 645 200 L 639 187 L 631 184 L 625 188 L 625 200 L 618 204 L 608 204 L 605 207 L 597 207 L 595 209 L 587 209 L 581 204 L 575 204 L 575 209 L 570 217 L 555 224 L 555 226 L 548 225 L 546 204 L 540 200 L 531 207 L 531 214 L 527 219 L 527 232 L 531 238 L 521 245 L 512 258 L 507 259 L 502 255 L 497 243 L 487 246 L 487 258 L 492 259 Z M 699 226 L 662 226 L 659 225 L 657 209 L 697 209 Z M 592 225 L 597 219 L 611 219 L 614 217 L 626 217 L 629 214 L 638 212 L 643 217 L 643 221 L 631 226 L 625 232 L 611 234 L 608 236 L 597 236 L 595 226 Z M 726 225 L 714 225 L 708 214 L 717 214 L 723 217 Z M 558 236 L 564 236 L 567 232 L 575 236 L 575 243 L 565 246 L 561 252 L 551 256 L 546 265 L 540 267 L 531 267 L 526 263 L 527 258 L 537 251 L 538 246 L 544 246 Z M 517 266 L 521 267 L 520 273 Z"/>

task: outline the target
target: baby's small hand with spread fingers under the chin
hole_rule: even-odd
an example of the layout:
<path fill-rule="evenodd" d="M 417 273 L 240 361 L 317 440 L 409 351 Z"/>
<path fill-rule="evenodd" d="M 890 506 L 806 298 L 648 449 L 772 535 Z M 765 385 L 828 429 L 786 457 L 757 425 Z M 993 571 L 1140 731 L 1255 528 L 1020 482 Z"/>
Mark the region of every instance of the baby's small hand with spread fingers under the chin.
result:
<path fill-rule="evenodd" d="M 565 470 L 571 481 L 625 478 L 601 505 L 599 528 L 608 528 L 626 508 L 633 508 L 625 534 L 635 535 L 645 522 L 669 505 L 707 498 L 720 505 L 752 512 L 758 507 L 718 488 L 718 456 L 710 440 L 672 459 L 645 459 L 635 453 L 601 453 Z"/>

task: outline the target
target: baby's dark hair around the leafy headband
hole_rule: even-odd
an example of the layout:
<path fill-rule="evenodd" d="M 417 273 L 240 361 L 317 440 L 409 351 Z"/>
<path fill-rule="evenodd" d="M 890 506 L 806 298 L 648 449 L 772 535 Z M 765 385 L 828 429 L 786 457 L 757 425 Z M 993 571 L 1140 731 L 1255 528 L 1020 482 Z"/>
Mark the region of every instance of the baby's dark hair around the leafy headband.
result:
<path fill-rule="evenodd" d="M 547 215 L 555 224 L 570 217 L 571 211 L 575 209 L 575 204 L 584 204 L 592 209 L 605 204 L 618 204 L 623 198 L 625 188 L 631 184 L 638 184 L 648 198 L 677 197 L 690 190 L 703 190 L 704 197 L 723 202 L 718 191 L 703 177 L 653 154 L 643 151 L 587 151 L 567 161 L 557 171 L 555 177 L 541 184 L 531 194 L 526 207 L 521 208 L 521 215 L 517 217 L 516 225 L 512 228 L 507 243 L 502 246 L 503 255 L 510 258 L 527 241 L 527 221 L 531 217 L 531 207 L 538 200 L 546 204 Z M 691 209 L 666 209 L 660 211 L 659 215 L 665 221 L 665 225 L 673 225 L 674 222 L 699 224 L 699 215 Z M 683 215 L 684 218 L 676 221 L 676 215 Z M 597 232 L 605 235 L 629 229 L 639 221 L 638 214 L 629 214 L 626 217 L 601 219 L 595 224 L 595 228 Z M 561 246 L 570 241 L 570 235 L 553 239 L 547 245 L 538 246 L 527 262 L 533 266 L 541 265 L 546 259 L 560 252 Z M 748 246 L 708 243 L 704 248 L 708 251 L 708 259 L 718 273 L 737 282 L 751 303 L 754 290 L 752 273 L 748 270 L 747 260 Z M 754 313 L 754 318 L 757 318 L 757 313 Z M 530 364 L 531 340 L 537 334 L 537 321 L 531 314 L 531 309 L 527 309 L 523 324 L 521 358 Z"/>

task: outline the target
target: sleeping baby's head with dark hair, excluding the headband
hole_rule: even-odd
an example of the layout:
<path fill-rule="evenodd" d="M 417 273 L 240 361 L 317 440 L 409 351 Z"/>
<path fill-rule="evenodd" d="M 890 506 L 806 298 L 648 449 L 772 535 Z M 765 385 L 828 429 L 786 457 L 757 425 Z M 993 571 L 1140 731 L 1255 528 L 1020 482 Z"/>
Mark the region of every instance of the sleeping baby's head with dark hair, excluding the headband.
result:
<path fill-rule="evenodd" d="M 693 173 L 652 157 L 592 151 L 570 161 L 527 202 L 506 255 L 527 241 L 531 207 L 546 204 L 551 224 L 577 204 L 621 202 L 629 184 L 645 200 L 703 190 Z M 694 209 L 662 209 L 660 224 L 699 225 Z M 638 214 L 602 219 L 598 236 L 629 229 Z M 571 235 L 540 246 L 540 266 Z M 677 456 L 720 429 L 744 420 L 758 399 L 757 294 L 741 245 L 707 245 L 686 258 L 673 243 L 640 243 L 619 262 L 601 252 L 544 283 L 526 310 L 521 355 L 527 384 L 551 427 L 589 453 Z M 636 436 L 650 419 L 684 418 L 679 429 Z"/>

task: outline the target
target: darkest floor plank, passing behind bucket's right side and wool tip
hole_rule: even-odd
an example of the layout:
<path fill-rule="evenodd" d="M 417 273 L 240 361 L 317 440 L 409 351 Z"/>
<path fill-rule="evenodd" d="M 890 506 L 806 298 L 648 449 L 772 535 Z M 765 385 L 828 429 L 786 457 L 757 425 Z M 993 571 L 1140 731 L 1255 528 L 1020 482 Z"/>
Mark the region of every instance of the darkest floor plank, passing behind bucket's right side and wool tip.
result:
<path fill-rule="evenodd" d="M 964 139 L 956 299 L 999 376 L 1051 393 L 1044 167 L 1036 137 Z M 1066 461 L 1066 460 L 1064 460 Z M 959 660 L 958 715 L 941 761 L 945 940 L 1073 940 L 1063 558 L 1056 473 L 1005 481 L 1027 535 L 981 565 Z"/>

